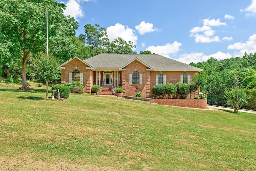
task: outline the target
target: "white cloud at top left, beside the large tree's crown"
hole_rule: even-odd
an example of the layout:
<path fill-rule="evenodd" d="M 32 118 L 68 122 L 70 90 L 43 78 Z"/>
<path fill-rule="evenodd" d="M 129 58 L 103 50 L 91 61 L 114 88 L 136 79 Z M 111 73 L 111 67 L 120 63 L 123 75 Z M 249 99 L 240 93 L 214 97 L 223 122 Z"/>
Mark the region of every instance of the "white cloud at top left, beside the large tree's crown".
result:
<path fill-rule="evenodd" d="M 64 15 L 70 15 L 71 17 L 74 17 L 75 20 L 78 20 L 78 18 L 82 18 L 84 16 L 82 7 L 80 6 L 77 0 L 68 0 L 68 2 L 65 5 L 67 6 L 67 8 L 63 12 Z"/>

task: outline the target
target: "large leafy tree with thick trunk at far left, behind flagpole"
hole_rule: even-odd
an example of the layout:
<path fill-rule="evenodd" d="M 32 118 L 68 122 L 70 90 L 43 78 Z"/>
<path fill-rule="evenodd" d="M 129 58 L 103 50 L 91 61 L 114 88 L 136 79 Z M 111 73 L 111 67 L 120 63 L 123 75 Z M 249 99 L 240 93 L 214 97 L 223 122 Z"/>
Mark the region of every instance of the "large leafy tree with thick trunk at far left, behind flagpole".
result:
<path fill-rule="evenodd" d="M 66 17 L 63 9 L 66 6 L 56 0 L 1 0 L 0 1 L 0 33 L 6 40 L 16 42 L 17 52 L 22 63 L 22 87 L 29 89 L 27 62 L 33 52 L 46 49 L 46 4 L 48 4 L 49 33 L 56 35 L 60 28 L 69 28 L 67 34 L 74 34 L 77 23 L 74 18 Z M 70 22 L 70 20 L 72 20 Z M 8 22 L 7 22 L 8 21 Z M 64 30 L 64 29 L 62 29 Z"/>

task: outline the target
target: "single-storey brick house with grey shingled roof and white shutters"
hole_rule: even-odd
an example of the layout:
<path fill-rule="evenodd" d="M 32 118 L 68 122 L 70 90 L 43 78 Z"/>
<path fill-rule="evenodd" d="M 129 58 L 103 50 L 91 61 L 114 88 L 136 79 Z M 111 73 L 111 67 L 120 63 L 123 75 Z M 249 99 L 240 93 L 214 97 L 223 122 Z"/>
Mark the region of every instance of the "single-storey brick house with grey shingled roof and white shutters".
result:
<path fill-rule="evenodd" d="M 122 87 L 124 95 L 152 97 L 152 87 L 158 84 L 190 83 L 200 68 L 160 55 L 99 54 L 81 60 L 77 57 L 61 64 L 61 83 L 80 82 L 85 93 L 92 85 Z"/>

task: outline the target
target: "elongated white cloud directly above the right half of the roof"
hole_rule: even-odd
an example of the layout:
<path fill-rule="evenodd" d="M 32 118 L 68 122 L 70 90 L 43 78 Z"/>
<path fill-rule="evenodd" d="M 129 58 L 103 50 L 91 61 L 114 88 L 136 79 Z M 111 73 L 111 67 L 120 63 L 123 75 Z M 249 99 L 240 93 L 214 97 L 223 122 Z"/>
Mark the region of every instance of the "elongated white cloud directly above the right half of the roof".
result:
<path fill-rule="evenodd" d="M 180 46 L 182 46 L 179 42 L 173 42 L 173 44 L 167 43 L 164 46 L 149 46 L 146 50 L 150 50 L 152 53 L 158 55 L 168 55 L 175 54 L 180 50 Z"/>

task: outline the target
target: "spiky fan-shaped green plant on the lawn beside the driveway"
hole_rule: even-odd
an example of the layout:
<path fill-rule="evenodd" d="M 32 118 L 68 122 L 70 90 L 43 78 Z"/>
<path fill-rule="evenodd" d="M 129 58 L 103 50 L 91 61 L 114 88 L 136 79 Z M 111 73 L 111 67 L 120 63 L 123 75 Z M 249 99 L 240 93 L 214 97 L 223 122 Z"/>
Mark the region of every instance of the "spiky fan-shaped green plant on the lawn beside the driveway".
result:
<path fill-rule="evenodd" d="M 224 97 L 228 100 L 227 103 L 234 108 L 234 113 L 237 113 L 239 108 L 248 103 L 247 101 L 250 98 L 246 94 L 246 90 L 241 87 L 225 88 L 224 93 Z"/>

